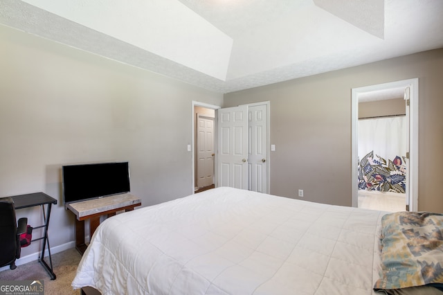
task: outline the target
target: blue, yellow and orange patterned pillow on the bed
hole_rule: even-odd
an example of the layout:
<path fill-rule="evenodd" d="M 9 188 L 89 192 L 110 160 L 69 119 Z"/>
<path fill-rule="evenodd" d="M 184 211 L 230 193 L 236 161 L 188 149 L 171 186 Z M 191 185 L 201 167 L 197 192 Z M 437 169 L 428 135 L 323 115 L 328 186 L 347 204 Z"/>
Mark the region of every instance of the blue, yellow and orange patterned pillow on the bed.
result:
<path fill-rule="evenodd" d="M 374 290 L 443 285 L 443 214 L 397 212 L 381 220 L 381 271 Z"/>

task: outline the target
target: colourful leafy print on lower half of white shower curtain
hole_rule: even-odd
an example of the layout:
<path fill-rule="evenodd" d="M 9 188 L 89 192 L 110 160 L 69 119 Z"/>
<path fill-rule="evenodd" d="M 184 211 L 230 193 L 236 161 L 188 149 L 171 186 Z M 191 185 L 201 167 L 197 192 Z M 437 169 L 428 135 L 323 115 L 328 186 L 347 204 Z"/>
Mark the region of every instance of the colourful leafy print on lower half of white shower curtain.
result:
<path fill-rule="evenodd" d="M 403 159 L 402 159 L 403 158 Z M 380 192 L 404 193 L 406 189 L 405 157 L 383 159 L 368 153 L 359 161 L 359 189 Z"/>

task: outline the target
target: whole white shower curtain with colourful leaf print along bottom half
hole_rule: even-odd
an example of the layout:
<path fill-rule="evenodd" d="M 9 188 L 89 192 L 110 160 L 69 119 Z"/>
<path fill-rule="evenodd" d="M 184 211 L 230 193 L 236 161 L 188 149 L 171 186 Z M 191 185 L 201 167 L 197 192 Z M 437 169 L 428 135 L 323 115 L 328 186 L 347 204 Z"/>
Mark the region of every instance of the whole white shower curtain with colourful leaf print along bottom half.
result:
<path fill-rule="evenodd" d="M 406 116 L 359 120 L 359 189 L 405 193 Z"/>

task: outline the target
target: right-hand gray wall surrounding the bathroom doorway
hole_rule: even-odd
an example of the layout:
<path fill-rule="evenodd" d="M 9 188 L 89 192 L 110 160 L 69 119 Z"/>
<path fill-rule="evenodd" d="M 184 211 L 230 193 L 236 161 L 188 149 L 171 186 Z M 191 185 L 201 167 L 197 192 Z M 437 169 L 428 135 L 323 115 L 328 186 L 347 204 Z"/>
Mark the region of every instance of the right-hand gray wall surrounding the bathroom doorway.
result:
<path fill-rule="evenodd" d="M 271 193 L 350 206 L 351 89 L 419 78 L 419 211 L 443 213 L 443 49 L 257 87 L 224 106 L 270 101 Z"/>

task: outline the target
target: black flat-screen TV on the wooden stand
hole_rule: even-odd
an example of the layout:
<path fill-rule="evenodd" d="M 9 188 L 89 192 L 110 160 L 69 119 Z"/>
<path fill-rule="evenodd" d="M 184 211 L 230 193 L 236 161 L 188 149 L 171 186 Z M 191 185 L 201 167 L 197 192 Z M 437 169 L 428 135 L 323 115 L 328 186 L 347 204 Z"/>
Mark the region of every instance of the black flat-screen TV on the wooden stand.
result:
<path fill-rule="evenodd" d="M 92 163 L 62 166 L 63 202 L 79 202 L 128 193 L 129 163 Z"/>

